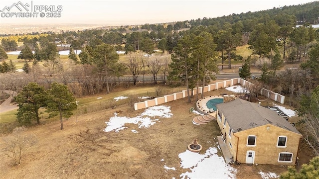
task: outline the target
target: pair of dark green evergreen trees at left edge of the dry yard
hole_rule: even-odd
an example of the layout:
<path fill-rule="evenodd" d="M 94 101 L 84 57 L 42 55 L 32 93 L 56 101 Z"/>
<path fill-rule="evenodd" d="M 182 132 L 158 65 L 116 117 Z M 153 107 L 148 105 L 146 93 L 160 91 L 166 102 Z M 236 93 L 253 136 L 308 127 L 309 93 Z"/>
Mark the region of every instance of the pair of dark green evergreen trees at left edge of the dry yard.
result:
<path fill-rule="evenodd" d="M 61 129 L 63 129 L 62 117 L 69 118 L 73 114 L 72 111 L 77 108 L 76 99 L 68 87 L 56 82 L 52 83 L 47 90 L 31 82 L 23 87 L 14 99 L 19 107 L 16 113 L 17 120 L 23 125 L 30 125 L 32 120 L 40 124 L 39 115 L 47 112 L 49 117 L 59 116 Z"/>

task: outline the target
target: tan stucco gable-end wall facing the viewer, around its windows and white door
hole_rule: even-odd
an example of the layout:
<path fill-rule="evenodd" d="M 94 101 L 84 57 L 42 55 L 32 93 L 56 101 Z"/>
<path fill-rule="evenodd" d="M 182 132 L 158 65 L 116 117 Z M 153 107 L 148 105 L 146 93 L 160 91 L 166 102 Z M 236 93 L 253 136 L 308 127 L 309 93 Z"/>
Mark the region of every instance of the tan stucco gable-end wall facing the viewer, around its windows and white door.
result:
<path fill-rule="evenodd" d="M 236 132 L 232 136 L 238 138 L 237 160 L 242 163 L 246 163 L 248 151 L 254 152 L 253 164 L 295 165 L 296 163 L 300 134 L 268 124 Z M 256 136 L 256 145 L 247 145 L 248 136 Z M 286 146 L 277 146 L 279 137 L 287 137 Z M 237 143 L 236 139 L 233 142 Z M 237 144 L 234 146 L 237 147 Z M 292 153 L 292 161 L 279 161 L 280 153 Z"/>

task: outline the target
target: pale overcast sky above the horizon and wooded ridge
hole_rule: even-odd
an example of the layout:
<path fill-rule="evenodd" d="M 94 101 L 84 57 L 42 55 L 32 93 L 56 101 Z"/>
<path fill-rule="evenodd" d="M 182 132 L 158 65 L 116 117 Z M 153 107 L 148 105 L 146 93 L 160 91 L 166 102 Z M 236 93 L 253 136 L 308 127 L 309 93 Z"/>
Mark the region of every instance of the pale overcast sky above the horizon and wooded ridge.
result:
<path fill-rule="evenodd" d="M 1 0 L 0 11 L 19 0 Z M 12 17 L 11 12 L 31 12 L 31 0 L 20 0 L 28 4 L 28 10 L 12 7 L 0 12 L 1 23 L 57 24 L 85 23 L 103 25 L 131 25 L 191 20 L 203 17 L 218 17 L 232 13 L 254 12 L 284 5 L 298 5 L 315 0 L 32 0 L 34 5 L 62 6 L 61 17 Z M 34 12 L 34 11 L 33 11 Z M 44 12 L 45 16 L 50 15 Z M 56 11 L 56 13 L 58 13 Z M 53 14 L 54 15 L 54 14 Z M 57 15 L 57 14 L 55 14 Z M 9 16 L 9 17 L 2 17 Z"/>

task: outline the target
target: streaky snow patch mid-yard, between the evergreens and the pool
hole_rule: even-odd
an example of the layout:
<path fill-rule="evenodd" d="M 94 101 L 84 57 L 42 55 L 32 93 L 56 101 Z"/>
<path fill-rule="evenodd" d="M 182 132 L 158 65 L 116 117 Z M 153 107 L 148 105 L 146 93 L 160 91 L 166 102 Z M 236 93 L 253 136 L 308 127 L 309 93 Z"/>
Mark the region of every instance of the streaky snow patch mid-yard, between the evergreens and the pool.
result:
<path fill-rule="evenodd" d="M 109 122 L 105 122 L 107 124 L 107 127 L 104 129 L 105 132 L 110 132 L 113 130 L 115 132 L 120 132 L 120 130 L 124 130 L 125 128 L 127 128 L 125 127 L 126 123 L 138 124 L 139 128 L 149 128 L 157 121 L 160 121 L 159 119 L 155 119 L 156 116 L 164 118 L 173 116 L 173 114 L 170 113 L 170 106 L 164 105 L 150 107 L 146 109 L 141 115 L 132 118 L 125 116 L 119 117 L 117 116 L 117 113 L 114 113 L 114 115 L 114 117 L 110 118 Z M 151 119 L 149 116 L 153 117 L 154 119 Z"/>

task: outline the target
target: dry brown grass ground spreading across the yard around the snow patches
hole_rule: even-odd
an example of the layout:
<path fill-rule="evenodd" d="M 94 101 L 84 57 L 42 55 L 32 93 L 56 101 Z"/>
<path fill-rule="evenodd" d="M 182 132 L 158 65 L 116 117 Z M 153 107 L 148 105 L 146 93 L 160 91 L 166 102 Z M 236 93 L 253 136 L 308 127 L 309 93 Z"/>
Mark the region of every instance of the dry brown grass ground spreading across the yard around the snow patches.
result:
<path fill-rule="evenodd" d="M 163 87 L 165 93 L 175 89 Z M 103 95 L 103 99 L 113 99 L 116 95 L 136 93 L 146 95 L 152 87 L 136 87 L 119 90 L 113 95 Z M 179 89 L 176 89 L 179 90 Z M 206 92 L 206 95 L 221 93 L 235 94 L 226 89 Z M 98 104 L 98 96 L 79 98 L 78 100 L 93 108 Z M 192 124 L 197 114 L 189 113 L 196 101 L 187 102 L 187 98 L 164 103 L 170 106 L 171 118 L 160 118 L 160 122 L 149 128 L 138 128 L 126 124 L 127 129 L 120 132 L 104 132 L 107 121 L 115 111 L 122 110 L 118 116 L 134 117 L 144 109 L 133 111 L 124 103 L 116 109 L 108 108 L 86 114 L 72 116 L 64 120 L 64 129 L 60 130 L 58 120 L 41 121 L 42 124 L 29 127 L 27 133 L 34 134 L 38 143 L 25 153 L 22 163 L 13 165 L 12 160 L 0 155 L 1 179 L 178 179 L 179 175 L 190 172 L 180 168 L 178 154 L 187 150 L 187 145 L 197 138 L 204 153 L 209 147 L 217 147 L 216 136 L 220 130 L 215 121 L 206 125 Z M 132 129 L 139 133 L 132 133 Z M 0 139 L 6 134 L 1 134 Z M 305 145 L 303 145 L 305 146 Z M 308 162 L 311 158 L 309 148 L 301 147 L 299 158 Z M 221 153 L 218 152 L 221 156 Z M 165 160 L 165 163 L 161 161 Z M 175 167 L 175 171 L 166 171 L 164 165 Z M 237 179 L 261 179 L 259 171 L 280 174 L 286 166 L 242 164 L 237 168 Z"/>

